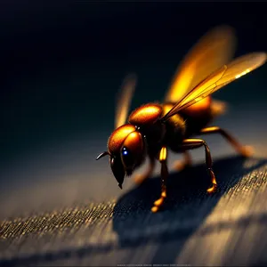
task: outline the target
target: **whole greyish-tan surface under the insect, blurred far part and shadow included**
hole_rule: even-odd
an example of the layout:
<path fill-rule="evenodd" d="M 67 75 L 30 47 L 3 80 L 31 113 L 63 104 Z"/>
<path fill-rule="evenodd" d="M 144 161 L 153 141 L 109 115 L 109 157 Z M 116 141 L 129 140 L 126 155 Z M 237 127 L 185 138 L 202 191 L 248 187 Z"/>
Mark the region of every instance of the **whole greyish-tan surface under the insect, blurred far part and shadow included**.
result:
<path fill-rule="evenodd" d="M 220 191 L 210 185 L 204 151 L 168 179 L 165 210 L 151 214 L 155 177 L 119 190 L 108 160 L 95 164 L 105 134 L 36 150 L 1 168 L 0 265 L 266 264 L 266 107 L 232 107 L 215 125 L 255 147 L 239 158 L 221 136 L 205 136 Z M 106 133 L 107 136 L 109 133 Z M 170 155 L 170 164 L 175 155 Z M 107 159 L 107 158 L 106 158 Z"/>

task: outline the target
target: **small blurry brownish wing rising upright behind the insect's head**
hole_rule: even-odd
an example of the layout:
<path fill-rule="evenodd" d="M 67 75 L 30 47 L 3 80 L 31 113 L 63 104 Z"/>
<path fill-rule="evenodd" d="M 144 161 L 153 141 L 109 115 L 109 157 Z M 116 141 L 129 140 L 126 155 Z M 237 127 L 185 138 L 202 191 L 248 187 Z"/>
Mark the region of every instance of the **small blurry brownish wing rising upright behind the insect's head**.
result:
<path fill-rule="evenodd" d="M 123 84 L 117 97 L 115 129 L 125 124 L 129 107 L 133 98 L 136 81 L 137 77 L 134 74 L 127 75 L 123 80 Z"/>

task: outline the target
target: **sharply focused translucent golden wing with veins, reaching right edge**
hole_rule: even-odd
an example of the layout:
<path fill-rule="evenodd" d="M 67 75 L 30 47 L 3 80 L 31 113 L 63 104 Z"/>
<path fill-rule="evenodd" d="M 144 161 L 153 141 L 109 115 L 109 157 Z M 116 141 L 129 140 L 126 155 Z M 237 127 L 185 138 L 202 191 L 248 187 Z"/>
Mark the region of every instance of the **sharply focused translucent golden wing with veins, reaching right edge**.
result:
<path fill-rule="evenodd" d="M 174 107 L 161 118 L 161 120 L 166 120 L 169 117 L 174 116 L 174 114 L 181 109 L 188 108 L 190 105 L 202 100 L 223 86 L 230 84 L 235 79 L 259 68 L 266 60 L 267 53 L 248 53 L 231 61 L 230 64 L 224 65 L 209 77 L 206 77 L 206 79 L 193 88 L 190 93 L 185 95 L 181 101 L 177 102 Z"/>

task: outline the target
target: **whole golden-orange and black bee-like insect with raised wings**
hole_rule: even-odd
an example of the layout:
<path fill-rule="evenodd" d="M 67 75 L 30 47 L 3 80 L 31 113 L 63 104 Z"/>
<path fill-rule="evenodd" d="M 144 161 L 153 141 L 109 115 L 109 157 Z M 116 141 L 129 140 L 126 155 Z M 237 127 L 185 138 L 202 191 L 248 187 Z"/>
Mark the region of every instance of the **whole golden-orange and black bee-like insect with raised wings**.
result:
<path fill-rule="evenodd" d="M 115 131 L 109 136 L 108 150 L 96 159 L 109 156 L 109 165 L 122 189 L 125 176 L 134 173 L 145 158 L 150 166 L 144 174 L 135 176 L 142 183 L 153 172 L 156 161 L 161 167 L 161 196 L 151 207 L 158 212 L 167 196 L 167 153 L 182 153 L 182 162 L 174 168 L 182 169 L 191 163 L 189 150 L 203 147 L 206 169 L 211 179 L 208 193 L 217 189 L 212 157 L 207 143 L 196 138 L 202 134 L 221 134 L 237 152 L 249 157 L 252 150 L 241 145 L 231 134 L 219 126 L 208 126 L 215 117 L 223 114 L 225 105 L 215 101 L 211 94 L 262 66 L 266 53 L 248 53 L 232 59 L 236 47 L 234 30 L 228 26 L 211 29 L 202 36 L 176 70 L 163 103 L 151 102 L 127 113 L 136 85 L 136 77 L 125 78 L 117 101 Z M 127 121 L 126 121 L 127 118 Z"/>

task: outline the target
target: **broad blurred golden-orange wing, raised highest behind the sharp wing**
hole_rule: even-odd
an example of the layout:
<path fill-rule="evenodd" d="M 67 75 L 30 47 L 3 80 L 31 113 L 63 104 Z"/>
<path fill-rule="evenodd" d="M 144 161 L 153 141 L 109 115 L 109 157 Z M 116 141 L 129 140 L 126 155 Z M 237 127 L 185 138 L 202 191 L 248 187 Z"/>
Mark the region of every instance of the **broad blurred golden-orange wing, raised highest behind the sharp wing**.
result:
<path fill-rule="evenodd" d="M 234 30 L 219 26 L 208 31 L 184 57 L 174 74 L 165 101 L 176 103 L 203 79 L 231 61 L 236 47 Z"/>

